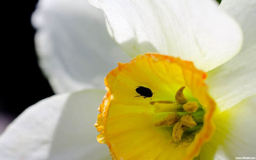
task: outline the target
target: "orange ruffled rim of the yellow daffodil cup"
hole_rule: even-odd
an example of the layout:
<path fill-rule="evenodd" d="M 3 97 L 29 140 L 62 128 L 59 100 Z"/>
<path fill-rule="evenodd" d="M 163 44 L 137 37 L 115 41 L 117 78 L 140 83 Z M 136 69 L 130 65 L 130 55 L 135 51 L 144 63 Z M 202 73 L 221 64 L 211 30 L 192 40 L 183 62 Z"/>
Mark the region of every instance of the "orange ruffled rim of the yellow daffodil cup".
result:
<path fill-rule="evenodd" d="M 190 146 L 187 148 L 186 155 L 183 157 L 184 160 L 193 159 L 194 157 L 198 156 L 200 153 L 200 149 L 202 145 L 211 139 L 213 132 L 215 130 L 215 125 L 212 121 L 212 116 L 216 108 L 215 101 L 209 96 L 207 90 L 208 86 L 204 83 L 207 74 L 204 71 L 198 70 L 195 68 L 193 62 L 191 61 L 185 61 L 181 60 L 180 58 L 174 58 L 171 56 L 161 55 L 157 53 L 146 53 L 143 55 L 138 55 L 137 57 L 133 58 L 129 63 L 118 63 L 118 67 L 113 69 L 108 73 L 108 75 L 105 77 L 105 85 L 106 90 L 108 91 L 104 98 L 102 103 L 100 104 L 100 107 L 98 110 L 100 111 L 100 114 L 97 117 L 97 122 L 95 123 L 95 127 L 97 128 L 97 131 L 100 132 L 100 134 L 97 136 L 97 140 L 99 143 L 106 143 L 108 145 L 108 148 L 110 150 L 110 156 L 112 156 L 112 159 L 118 159 L 118 157 L 115 155 L 115 151 L 112 149 L 111 143 L 109 141 L 105 141 L 105 124 L 108 117 L 108 109 L 111 103 L 111 92 L 109 92 L 109 87 L 111 87 L 111 84 L 115 81 L 115 78 L 109 78 L 109 77 L 116 77 L 119 73 L 121 73 L 126 67 L 128 67 L 130 64 L 134 63 L 137 59 L 140 58 L 153 58 L 155 60 L 167 60 L 170 63 L 176 63 L 180 65 L 182 68 L 186 68 L 192 73 L 200 74 L 201 75 L 201 82 L 199 83 L 200 87 L 202 88 L 202 92 L 200 95 L 194 95 L 193 91 L 192 94 L 199 100 L 199 102 L 204 106 L 205 108 L 205 115 L 204 115 L 204 126 L 200 130 L 198 134 L 196 134 L 194 141 L 190 144 Z M 111 76 L 109 76 L 111 74 Z M 184 73 L 183 73 L 184 74 Z M 108 79 L 108 82 L 107 82 Z M 198 97 L 201 98 L 198 98 Z M 203 98 L 202 98 L 203 97 Z"/>

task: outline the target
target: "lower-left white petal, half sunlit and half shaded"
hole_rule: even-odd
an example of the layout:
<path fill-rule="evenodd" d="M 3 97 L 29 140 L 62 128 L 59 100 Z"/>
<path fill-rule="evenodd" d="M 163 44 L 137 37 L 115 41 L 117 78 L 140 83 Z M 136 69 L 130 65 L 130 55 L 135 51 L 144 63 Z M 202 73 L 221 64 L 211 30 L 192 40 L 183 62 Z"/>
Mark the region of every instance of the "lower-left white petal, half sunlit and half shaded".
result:
<path fill-rule="evenodd" d="M 94 124 L 105 91 L 55 95 L 26 109 L 0 137 L 1 160 L 110 159 Z"/>

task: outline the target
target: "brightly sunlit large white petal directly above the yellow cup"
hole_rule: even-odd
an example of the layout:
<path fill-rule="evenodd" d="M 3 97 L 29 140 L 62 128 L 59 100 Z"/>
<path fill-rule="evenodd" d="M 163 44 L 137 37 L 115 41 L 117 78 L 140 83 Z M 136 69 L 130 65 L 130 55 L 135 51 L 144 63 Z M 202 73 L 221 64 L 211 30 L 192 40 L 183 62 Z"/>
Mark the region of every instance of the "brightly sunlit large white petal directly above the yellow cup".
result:
<path fill-rule="evenodd" d="M 159 52 L 209 71 L 242 45 L 240 27 L 212 0 L 89 2 L 104 11 L 110 35 L 132 57 Z"/>

